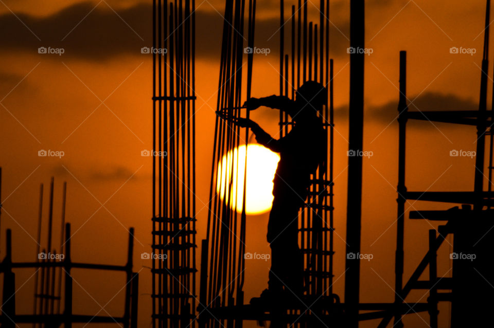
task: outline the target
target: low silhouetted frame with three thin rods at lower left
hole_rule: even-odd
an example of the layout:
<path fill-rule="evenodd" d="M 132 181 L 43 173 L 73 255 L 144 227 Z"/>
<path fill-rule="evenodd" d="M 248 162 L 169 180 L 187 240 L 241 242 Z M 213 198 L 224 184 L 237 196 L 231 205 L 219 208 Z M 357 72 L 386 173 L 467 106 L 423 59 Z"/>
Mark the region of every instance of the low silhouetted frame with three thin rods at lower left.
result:
<path fill-rule="evenodd" d="M 0 185 L 1 189 L 1 185 Z M 76 323 L 117 323 L 123 327 L 137 327 L 137 298 L 139 278 L 132 271 L 134 244 L 134 228 L 130 228 L 127 263 L 125 265 L 108 265 L 74 262 L 71 257 L 70 224 L 65 223 L 66 183 L 63 187 L 62 220 L 60 231 L 60 253 L 52 248 L 52 224 L 54 203 L 54 179 L 51 178 L 49 190 L 49 215 L 47 247 L 41 249 L 41 225 L 43 208 L 43 185 L 40 188 L 40 207 L 37 236 L 37 257 L 35 262 L 12 261 L 12 232 L 6 232 L 6 253 L 0 263 L 0 274 L 3 274 L 2 327 L 15 327 L 19 323 L 32 323 L 33 327 L 72 327 Z M 15 309 L 15 293 L 19 284 L 15 283 L 15 271 L 35 269 L 34 272 L 34 304 L 33 314 L 17 314 Z M 125 305 L 123 316 L 81 315 L 73 313 L 73 270 L 108 270 L 126 273 Z M 63 307 L 62 307 L 63 304 Z"/>

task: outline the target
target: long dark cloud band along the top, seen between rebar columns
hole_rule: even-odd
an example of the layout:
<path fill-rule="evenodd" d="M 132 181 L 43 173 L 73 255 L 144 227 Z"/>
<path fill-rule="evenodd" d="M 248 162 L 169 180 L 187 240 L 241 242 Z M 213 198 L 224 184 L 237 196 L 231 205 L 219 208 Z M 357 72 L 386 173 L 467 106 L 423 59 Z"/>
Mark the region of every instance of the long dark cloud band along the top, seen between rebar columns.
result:
<path fill-rule="evenodd" d="M 220 56 L 223 17 L 206 8 L 199 9 L 197 19 L 197 56 L 217 60 Z M 121 55 L 143 56 L 140 49 L 152 45 L 152 6 L 138 4 L 113 11 L 104 2 L 96 8 L 85 2 L 67 7 L 49 16 L 6 13 L 0 16 L 0 51 L 25 51 L 38 55 L 39 47 L 63 48 L 60 58 L 87 60 L 111 59 Z M 288 17 L 288 15 L 287 15 Z M 246 28 L 245 28 L 246 30 Z M 279 19 L 266 17 L 256 21 L 255 45 L 271 49 L 277 56 Z M 340 28 L 348 35 L 348 27 Z M 331 27 L 331 48 L 346 54 L 348 41 Z M 285 25 L 285 37 L 290 37 L 290 23 Z M 39 54 L 52 56 L 57 54 Z M 277 57 L 276 57 L 277 58 Z"/>

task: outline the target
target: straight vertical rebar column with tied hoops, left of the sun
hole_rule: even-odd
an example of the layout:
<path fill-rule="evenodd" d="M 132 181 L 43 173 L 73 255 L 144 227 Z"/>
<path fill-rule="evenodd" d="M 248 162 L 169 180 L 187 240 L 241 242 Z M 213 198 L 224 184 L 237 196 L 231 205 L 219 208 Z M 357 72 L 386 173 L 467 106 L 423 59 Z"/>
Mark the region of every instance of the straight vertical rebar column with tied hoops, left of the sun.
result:
<path fill-rule="evenodd" d="M 153 0 L 153 327 L 194 327 L 194 0 Z"/>

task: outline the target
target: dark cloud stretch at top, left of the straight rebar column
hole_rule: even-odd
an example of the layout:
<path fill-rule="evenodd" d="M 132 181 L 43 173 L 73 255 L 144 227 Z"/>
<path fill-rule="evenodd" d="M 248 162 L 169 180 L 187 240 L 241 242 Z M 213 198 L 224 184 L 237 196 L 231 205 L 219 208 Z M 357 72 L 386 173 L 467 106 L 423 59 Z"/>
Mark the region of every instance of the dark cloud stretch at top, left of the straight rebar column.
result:
<path fill-rule="evenodd" d="M 137 5 L 117 13 L 104 3 L 93 9 L 94 4 L 80 3 L 46 17 L 18 14 L 18 20 L 9 13 L 2 15 L 2 50 L 38 53 L 39 47 L 64 48 L 63 58 L 101 59 L 140 54 L 140 47 L 146 41 L 151 42 L 149 5 Z"/>

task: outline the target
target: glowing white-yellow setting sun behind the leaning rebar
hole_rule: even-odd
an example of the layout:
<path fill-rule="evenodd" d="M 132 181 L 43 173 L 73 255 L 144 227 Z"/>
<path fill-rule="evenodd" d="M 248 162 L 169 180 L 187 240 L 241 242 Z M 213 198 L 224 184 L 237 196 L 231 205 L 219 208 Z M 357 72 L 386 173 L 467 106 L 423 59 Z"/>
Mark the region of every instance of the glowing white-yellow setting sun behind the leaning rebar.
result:
<path fill-rule="evenodd" d="M 279 155 L 259 144 L 249 144 L 247 148 L 247 185 L 245 211 L 247 214 L 261 214 L 271 209 L 273 202 L 273 178 L 279 161 Z M 218 176 L 216 191 L 221 199 L 225 196 L 225 186 L 230 185 L 232 176 L 233 159 L 233 182 L 228 196 L 232 196 L 230 206 L 242 211 L 243 184 L 245 170 L 245 145 L 235 148 L 223 156 L 218 163 Z M 225 169 L 222 169 L 225 168 Z M 236 193 L 236 197 L 235 197 Z M 228 200 L 228 198 L 227 198 Z M 238 205 L 237 205 L 238 204 Z"/>

